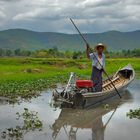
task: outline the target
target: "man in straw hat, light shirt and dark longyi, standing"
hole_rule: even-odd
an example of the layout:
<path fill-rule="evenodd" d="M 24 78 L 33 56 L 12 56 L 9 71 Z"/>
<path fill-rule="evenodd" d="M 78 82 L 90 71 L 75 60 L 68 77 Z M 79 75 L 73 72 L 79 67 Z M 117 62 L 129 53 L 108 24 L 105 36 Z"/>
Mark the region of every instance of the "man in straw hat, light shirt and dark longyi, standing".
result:
<path fill-rule="evenodd" d="M 105 67 L 105 55 L 103 51 L 105 50 L 105 45 L 99 43 L 95 46 L 96 52 L 93 54 L 90 52 L 90 47 L 87 44 L 87 57 L 92 60 L 92 75 L 91 80 L 94 83 L 94 91 L 100 92 L 102 91 L 102 73 L 103 68 Z M 96 56 L 96 57 L 95 57 Z M 98 60 L 97 60 L 98 59 Z M 100 62 L 100 64 L 99 64 Z"/>

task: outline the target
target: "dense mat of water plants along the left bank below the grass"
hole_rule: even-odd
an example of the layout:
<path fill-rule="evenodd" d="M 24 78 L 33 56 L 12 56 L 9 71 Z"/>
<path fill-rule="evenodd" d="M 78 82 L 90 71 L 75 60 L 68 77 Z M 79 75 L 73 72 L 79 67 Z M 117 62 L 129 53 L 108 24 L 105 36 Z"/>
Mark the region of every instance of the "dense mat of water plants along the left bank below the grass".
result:
<path fill-rule="evenodd" d="M 53 87 L 54 84 L 66 81 L 66 77 L 59 76 L 52 79 L 38 79 L 32 81 L 6 81 L 0 84 L 0 96 L 16 101 L 18 97 L 30 99 L 39 95 L 40 91 Z"/>

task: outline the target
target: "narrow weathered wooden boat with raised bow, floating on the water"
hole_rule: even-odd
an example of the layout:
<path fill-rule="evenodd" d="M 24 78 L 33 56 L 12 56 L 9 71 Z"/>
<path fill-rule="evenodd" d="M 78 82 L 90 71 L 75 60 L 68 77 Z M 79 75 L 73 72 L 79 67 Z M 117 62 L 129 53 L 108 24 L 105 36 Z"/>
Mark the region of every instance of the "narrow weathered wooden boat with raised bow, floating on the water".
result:
<path fill-rule="evenodd" d="M 122 91 L 127 88 L 134 78 L 135 71 L 130 64 L 119 69 L 113 76 L 110 76 L 111 81 L 120 94 L 124 93 Z M 59 101 L 63 105 L 71 104 L 74 107 L 94 105 L 117 95 L 111 81 L 109 79 L 104 80 L 102 91 L 93 92 L 91 88 L 77 88 L 75 74 L 71 73 L 66 88 L 62 92 L 57 90 L 53 92 L 53 100 Z"/>

